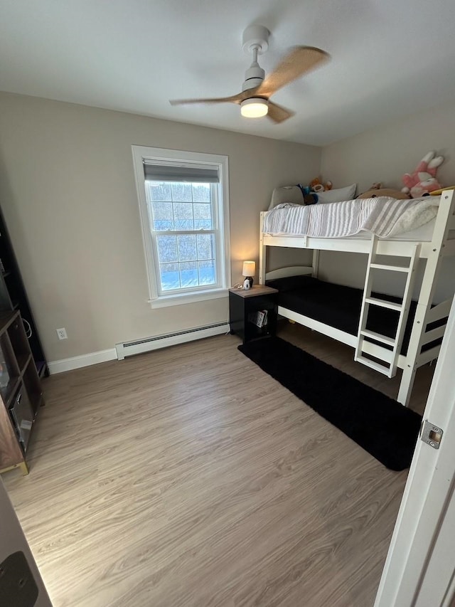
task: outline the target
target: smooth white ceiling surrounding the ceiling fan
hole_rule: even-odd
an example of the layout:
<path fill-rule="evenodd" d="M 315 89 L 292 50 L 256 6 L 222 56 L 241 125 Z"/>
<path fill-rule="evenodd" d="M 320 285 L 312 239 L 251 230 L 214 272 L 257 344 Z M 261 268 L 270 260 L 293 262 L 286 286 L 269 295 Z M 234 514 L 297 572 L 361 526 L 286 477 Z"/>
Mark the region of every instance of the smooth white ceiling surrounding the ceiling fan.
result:
<path fill-rule="evenodd" d="M 455 100 L 454 0 L 0 0 L 0 90 L 324 145 Z M 233 104 L 244 29 L 272 32 L 267 73 L 289 47 L 331 63 L 274 95 L 282 125 Z M 424 125 L 422 125 L 424 129 Z"/>

